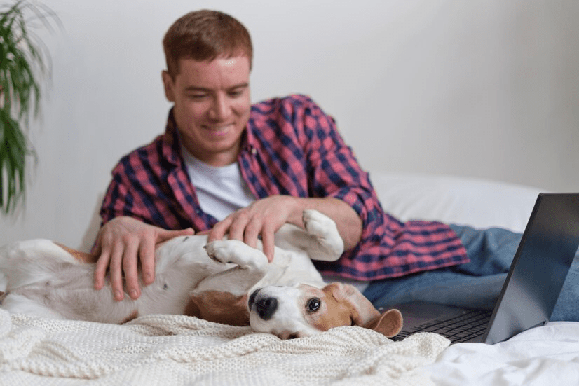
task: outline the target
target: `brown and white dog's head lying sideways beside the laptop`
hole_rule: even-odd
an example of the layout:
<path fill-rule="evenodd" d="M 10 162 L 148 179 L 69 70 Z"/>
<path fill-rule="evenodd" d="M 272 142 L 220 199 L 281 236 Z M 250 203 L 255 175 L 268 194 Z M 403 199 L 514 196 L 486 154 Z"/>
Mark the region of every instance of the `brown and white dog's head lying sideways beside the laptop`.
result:
<path fill-rule="evenodd" d="M 247 307 L 252 329 L 282 339 L 311 336 L 338 326 L 364 326 L 388 337 L 402 329 L 400 311 L 381 315 L 355 287 L 337 282 L 322 289 L 307 284 L 264 287 L 250 295 Z"/>

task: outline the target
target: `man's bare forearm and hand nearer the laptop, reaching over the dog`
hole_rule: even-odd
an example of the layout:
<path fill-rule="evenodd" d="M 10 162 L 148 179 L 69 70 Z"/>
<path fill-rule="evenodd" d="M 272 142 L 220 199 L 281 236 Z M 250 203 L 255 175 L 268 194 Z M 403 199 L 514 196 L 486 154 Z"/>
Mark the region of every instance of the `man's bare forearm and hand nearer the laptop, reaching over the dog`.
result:
<path fill-rule="evenodd" d="M 284 224 L 292 223 L 304 228 L 301 219 L 305 209 L 315 209 L 336 222 L 345 249 L 353 248 L 362 236 L 362 220 L 354 209 L 337 198 L 296 198 L 273 195 L 239 209 L 217 223 L 209 233 L 209 241 L 219 240 L 226 233 L 229 238 L 242 240 L 257 247 L 258 237 L 264 243 L 264 253 L 273 259 L 274 233 Z"/>

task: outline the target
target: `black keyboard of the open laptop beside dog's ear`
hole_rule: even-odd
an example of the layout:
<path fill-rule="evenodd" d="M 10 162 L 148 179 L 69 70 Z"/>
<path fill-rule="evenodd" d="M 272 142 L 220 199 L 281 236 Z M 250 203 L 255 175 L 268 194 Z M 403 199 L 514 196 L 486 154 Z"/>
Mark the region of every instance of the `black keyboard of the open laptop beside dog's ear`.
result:
<path fill-rule="evenodd" d="M 415 326 L 409 331 L 401 331 L 395 340 L 402 340 L 417 332 L 440 333 L 451 343 L 460 343 L 481 336 L 491 319 L 492 311 L 472 310 L 451 319 L 437 319 Z"/>

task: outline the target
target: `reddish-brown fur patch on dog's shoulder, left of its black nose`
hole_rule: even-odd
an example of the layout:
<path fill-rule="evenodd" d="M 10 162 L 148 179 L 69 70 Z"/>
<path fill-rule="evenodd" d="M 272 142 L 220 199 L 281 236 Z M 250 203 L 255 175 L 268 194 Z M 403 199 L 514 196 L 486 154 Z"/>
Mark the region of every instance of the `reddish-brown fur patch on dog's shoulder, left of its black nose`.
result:
<path fill-rule="evenodd" d="M 249 326 L 247 295 L 236 296 L 229 292 L 205 291 L 191 296 L 184 315 L 230 326 Z"/>

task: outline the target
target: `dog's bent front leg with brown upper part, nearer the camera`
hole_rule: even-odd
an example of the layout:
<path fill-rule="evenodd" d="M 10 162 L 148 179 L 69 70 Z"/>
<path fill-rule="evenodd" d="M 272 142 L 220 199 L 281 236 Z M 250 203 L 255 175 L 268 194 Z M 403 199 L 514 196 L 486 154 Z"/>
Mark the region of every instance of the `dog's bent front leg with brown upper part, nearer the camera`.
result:
<path fill-rule="evenodd" d="M 205 249 L 217 263 L 235 266 L 205 277 L 191 291 L 186 314 L 211 322 L 248 325 L 247 292 L 266 275 L 266 255 L 238 240 L 210 242 Z"/>

